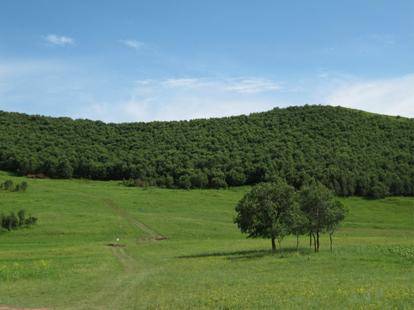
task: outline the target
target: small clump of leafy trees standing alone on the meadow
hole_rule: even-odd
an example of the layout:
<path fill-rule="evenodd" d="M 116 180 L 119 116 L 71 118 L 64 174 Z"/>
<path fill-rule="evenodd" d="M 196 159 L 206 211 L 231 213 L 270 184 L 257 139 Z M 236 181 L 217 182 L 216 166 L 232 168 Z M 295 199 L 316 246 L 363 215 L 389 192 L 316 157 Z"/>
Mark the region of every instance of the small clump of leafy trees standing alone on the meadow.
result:
<path fill-rule="evenodd" d="M 234 222 L 248 238 L 271 238 L 275 240 L 283 256 L 282 240 L 293 234 L 308 235 L 310 246 L 312 237 L 315 251 L 319 251 L 319 234 L 332 235 L 339 228 L 348 210 L 335 198 L 331 190 L 321 183 L 305 185 L 299 190 L 284 180 L 275 183 L 259 183 L 244 195 L 236 207 Z"/>

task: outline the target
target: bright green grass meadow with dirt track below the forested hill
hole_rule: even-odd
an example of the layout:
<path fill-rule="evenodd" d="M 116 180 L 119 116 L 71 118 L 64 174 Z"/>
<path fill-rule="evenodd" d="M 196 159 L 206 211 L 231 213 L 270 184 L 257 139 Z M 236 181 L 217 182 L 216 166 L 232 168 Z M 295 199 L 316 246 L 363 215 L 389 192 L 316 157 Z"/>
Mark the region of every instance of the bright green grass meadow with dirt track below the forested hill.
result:
<path fill-rule="evenodd" d="M 349 215 L 332 252 L 328 236 L 318 254 L 304 236 L 298 256 L 292 236 L 281 258 L 270 240 L 246 239 L 233 224 L 247 188 L 146 190 L 0 172 L 8 179 L 28 189 L 1 190 L 0 211 L 38 220 L 0 232 L 0 307 L 414 307 L 413 198 L 344 198 Z"/>

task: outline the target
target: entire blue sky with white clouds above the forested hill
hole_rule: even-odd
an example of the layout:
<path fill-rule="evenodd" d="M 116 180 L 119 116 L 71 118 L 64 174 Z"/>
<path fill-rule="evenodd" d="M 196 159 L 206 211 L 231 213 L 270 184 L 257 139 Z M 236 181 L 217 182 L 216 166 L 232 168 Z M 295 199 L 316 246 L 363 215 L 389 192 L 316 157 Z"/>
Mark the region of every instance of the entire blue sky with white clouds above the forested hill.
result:
<path fill-rule="evenodd" d="M 107 123 L 414 117 L 411 0 L 0 0 L 0 110 Z"/>

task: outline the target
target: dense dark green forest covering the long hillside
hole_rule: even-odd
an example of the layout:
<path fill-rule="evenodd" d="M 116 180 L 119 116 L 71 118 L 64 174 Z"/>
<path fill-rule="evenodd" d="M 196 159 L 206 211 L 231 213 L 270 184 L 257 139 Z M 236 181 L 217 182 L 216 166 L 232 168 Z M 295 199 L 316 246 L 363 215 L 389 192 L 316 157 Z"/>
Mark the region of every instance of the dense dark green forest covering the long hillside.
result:
<path fill-rule="evenodd" d="M 319 180 L 339 196 L 413 196 L 413 125 L 321 105 L 119 124 L 0 111 L 0 169 L 188 188 L 282 177 L 297 188 Z"/>

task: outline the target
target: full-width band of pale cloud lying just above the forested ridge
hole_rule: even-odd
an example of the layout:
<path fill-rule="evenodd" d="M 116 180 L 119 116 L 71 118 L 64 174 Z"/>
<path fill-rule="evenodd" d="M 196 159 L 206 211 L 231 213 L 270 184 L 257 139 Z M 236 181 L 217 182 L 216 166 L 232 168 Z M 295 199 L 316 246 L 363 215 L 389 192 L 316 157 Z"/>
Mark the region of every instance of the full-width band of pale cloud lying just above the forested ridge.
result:
<path fill-rule="evenodd" d="M 298 81 L 250 76 L 132 83 L 103 76 L 90 61 L 0 61 L 0 110 L 121 123 L 224 117 L 320 103 L 414 117 L 414 74 L 367 81 L 328 70 L 317 73 Z"/>

